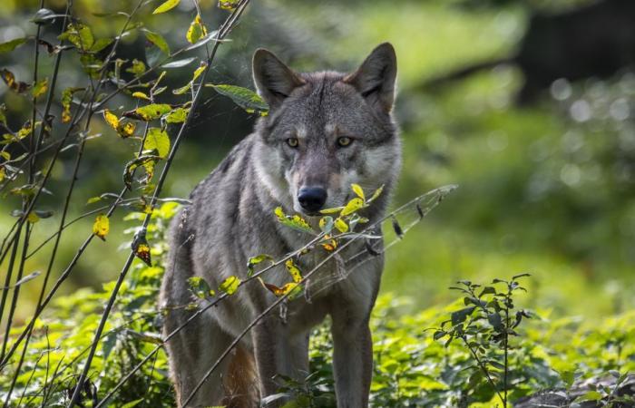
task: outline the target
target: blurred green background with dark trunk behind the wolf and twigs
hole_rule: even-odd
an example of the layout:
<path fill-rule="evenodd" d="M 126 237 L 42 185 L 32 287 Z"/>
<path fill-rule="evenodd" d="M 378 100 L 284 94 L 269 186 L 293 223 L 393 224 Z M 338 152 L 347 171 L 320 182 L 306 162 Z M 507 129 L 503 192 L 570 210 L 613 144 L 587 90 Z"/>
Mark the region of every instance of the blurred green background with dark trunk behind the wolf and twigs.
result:
<path fill-rule="evenodd" d="M 122 17 L 103 14 L 133 6 L 127 0 L 73 3 L 96 36 L 115 35 L 123 24 Z M 182 1 L 176 12 L 151 15 L 159 3 L 144 7 L 139 22 L 176 50 L 187 44 L 185 31 L 196 12 Z M 200 0 L 208 27 L 227 15 L 215 3 Z M 28 20 L 39 2 L 0 4 L 0 43 L 34 34 Z M 63 0 L 45 5 L 64 13 Z M 530 306 L 601 319 L 635 306 L 634 23 L 632 0 L 259 0 L 220 47 L 211 82 L 253 89 L 250 57 L 259 47 L 298 71 L 348 71 L 376 44 L 391 42 L 405 154 L 394 206 L 444 184 L 460 188 L 391 248 L 382 291 L 411 296 L 418 308 L 453 298 L 446 288 L 457 279 L 485 282 L 529 272 Z M 47 26 L 44 37 L 54 41 L 59 24 Z M 135 31 L 118 57 L 148 63 L 153 55 Z M 0 54 L 0 68 L 27 80 L 32 58 L 23 46 Z M 43 58 L 46 75 L 53 57 Z M 59 90 L 86 82 L 72 58 L 62 60 Z M 191 71 L 169 70 L 167 82 L 181 86 Z M 203 101 L 163 197 L 186 198 L 256 119 L 211 89 Z M 28 102 L 4 83 L 0 103 L 12 129 L 29 119 Z M 109 107 L 132 103 L 121 96 Z M 58 118 L 60 111 L 54 107 Z M 103 205 L 88 205 L 88 199 L 119 191 L 123 166 L 132 158 L 133 141 L 118 138 L 101 118 L 93 132 L 102 134 L 86 146 L 70 219 Z M 34 245 L 56 229 L 73 161 L 73 151 L 64 152 L 54 169 L 52 194 L 39 205 L 54 216 L 35 225 Z M 20 202 L 2 192 L 2 236 Z M 117 276 L 129 248 L 123 231 L 135 225 L 125 215 L 115 212 L 107 241 L 93 242 L 63 292 L 101 287 Z M 92 223 L 83 219 L 65 233 L 58 273 Z M 25 274 L 45 270 L 49 251 L 31 257 Z M 1 282 L 4 275 L 0 269 Z M 18 318 L 32 310 L 37 282 L 24 285 L 33 296 L 21 296 Z"/>

